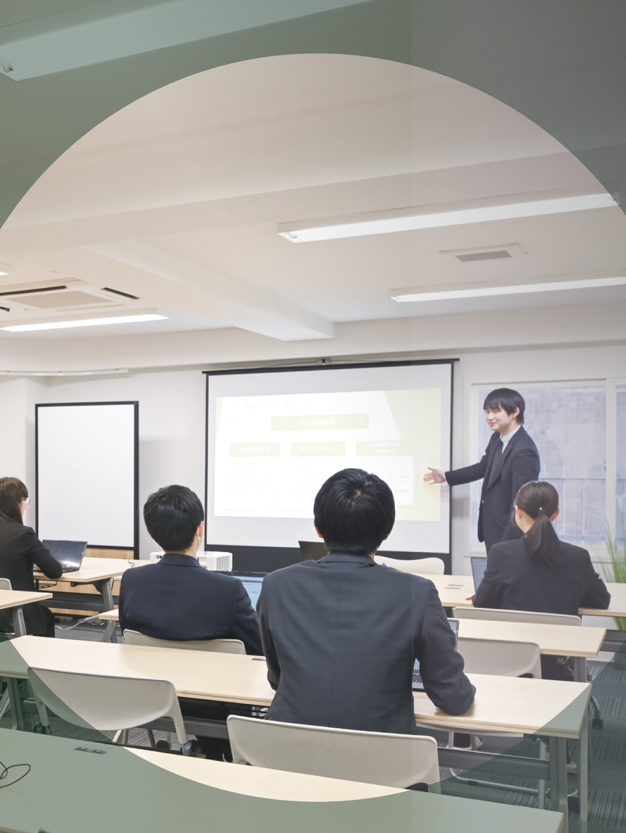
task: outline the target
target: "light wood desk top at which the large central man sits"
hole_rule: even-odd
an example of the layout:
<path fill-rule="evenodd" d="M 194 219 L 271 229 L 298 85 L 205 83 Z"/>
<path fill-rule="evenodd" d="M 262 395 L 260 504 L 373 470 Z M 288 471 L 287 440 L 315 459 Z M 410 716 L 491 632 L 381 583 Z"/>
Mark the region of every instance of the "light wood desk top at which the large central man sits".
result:
<path fill-rule="evenodd" d="M 178 696 L 201 700 L 269 706 L 274 696 L 265 661 L 237 654 L 42 636 L 21 636 L 0 645 L 0 676 L 25 677 L 27 666 L 167 679 Z M 476 701 L 467 714 L 445 715 L 425 694 L 415 693 L 416 719 L 469 731 L 532 734 L 541 729 L 552 736 L 578 736 L 589 701 L 589 684 L 476 674 L 470 674 L 469 679 L 476 686 Z"/>

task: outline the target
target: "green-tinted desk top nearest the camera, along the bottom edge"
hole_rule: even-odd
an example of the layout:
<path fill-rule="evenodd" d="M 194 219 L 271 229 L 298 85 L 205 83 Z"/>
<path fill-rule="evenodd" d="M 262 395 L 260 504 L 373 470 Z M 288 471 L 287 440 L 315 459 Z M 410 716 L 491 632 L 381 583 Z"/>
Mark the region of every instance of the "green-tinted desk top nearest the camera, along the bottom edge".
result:
<path fill-rule="evenodd" d="M 92 742 L 84 746 L 103 754 L 89 754 L 77 746 L 82 744 L 69 738 L 0 730 L 2 761 L 32 765 L 22 781 L 2 790 L 2 829 L 204 833 L 208 825 L 273 833 L 559 833 L 563 824 L 560 813 L 529 807 Z M 70 793 L 71 803 L 59 800 Z M 111 796 L 118 816 L 103 811 Z"/>

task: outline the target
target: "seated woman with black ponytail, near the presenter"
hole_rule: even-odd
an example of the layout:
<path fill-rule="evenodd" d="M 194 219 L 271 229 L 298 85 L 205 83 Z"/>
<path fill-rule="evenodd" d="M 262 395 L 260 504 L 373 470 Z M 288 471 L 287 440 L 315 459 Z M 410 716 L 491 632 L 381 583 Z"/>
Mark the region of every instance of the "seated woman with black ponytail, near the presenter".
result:
<path fill-rule="evenodd" d="M 523 536 L 494 544 L 474 607 L 577 616 L 580 607 L 605 608 L 611 596 L 581 546 L 559 541 L 553 521 L 559 495 L 551 483 L 531 481 L 515 497 L 514 522 Z M 544 677 L 571 678 L 568 666 L 542 656 Z"/>

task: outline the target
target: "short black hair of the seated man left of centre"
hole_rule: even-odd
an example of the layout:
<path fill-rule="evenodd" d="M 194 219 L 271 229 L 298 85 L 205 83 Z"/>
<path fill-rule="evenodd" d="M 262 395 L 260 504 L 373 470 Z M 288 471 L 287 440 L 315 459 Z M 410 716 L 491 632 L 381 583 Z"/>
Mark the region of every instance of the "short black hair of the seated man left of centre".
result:
<path fill-rule="evenodd" d="M 143 520 L 151 538 L 165 552 L 189 549 L 204 509 L 195 491 L 186 486 L 163 486 L 153 492 L 143 507 Z"/>

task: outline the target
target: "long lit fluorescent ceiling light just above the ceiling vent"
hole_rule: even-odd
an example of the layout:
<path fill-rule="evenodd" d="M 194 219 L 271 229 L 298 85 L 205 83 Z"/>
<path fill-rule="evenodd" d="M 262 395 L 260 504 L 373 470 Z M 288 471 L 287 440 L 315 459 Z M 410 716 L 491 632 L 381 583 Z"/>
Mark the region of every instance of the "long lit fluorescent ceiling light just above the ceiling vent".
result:
<path fill-rule="evenodd" d="M 562 194 L 562 192 L 561 192 Z M 529 197 L 537 197 L 536 194 Z M 489 220 L 511 220 L 518 217 L 539 217 L 543 214 L 587 211 L 589 208 L 611 208 L 617 206 L 608 192 L 578 194 L 569 196 L 546 195 L 542 198 L 524 200 L 515 197 L 474 200 L 471 203 L 457 203 L 457 207 L 428 206 L 422 208 L 399 208 L 387 212 L 353 215 L 352 217 L 328 217 L 310 222 L 283 222 L 276 232 L 292 243 L 306 243 L 315 240 L 335 240 L 340 237 L 363 237 L 370 234 L 390 232 L 412 232 L 420 228 L 460 226 L 469 222 Z"/>

